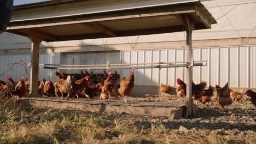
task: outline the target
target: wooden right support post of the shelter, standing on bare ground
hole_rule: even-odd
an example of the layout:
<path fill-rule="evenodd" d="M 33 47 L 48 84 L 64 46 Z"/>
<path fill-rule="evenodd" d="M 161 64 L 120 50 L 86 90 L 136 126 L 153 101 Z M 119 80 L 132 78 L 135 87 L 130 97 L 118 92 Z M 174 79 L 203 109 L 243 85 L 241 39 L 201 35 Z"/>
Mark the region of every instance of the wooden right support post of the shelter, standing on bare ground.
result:
<path fill-rule="evenodd" d="M 193 21 L 189 15 L 184 15 L 184 24 L 185 30 L 187 32 L 187 60 L 193 61 L 192 55 L 192 31 L 193 31 Z M 187 67 L 186 69 L 186 82 L 187 82 L 187 100 L 185 106 L 187 106 L 187 112 L 185 117 L 191 117 L 193 114 L 193 99 L 192 99 L 192 76 L 193 76 L 193 67 Z"/>

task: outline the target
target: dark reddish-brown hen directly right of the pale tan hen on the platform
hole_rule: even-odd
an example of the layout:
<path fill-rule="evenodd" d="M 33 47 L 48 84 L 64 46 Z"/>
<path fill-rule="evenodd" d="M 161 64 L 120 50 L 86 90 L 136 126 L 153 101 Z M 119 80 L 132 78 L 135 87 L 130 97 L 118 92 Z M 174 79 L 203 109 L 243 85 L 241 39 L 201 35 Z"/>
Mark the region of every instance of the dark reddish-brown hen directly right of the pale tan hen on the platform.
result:
<path fill-rule="evenodd" d="M 83 79 L 76 80 L 76 81 L 72 80 L 71 88 L 72 88 L 72 91 L 77 96 L 77 98 L 79 98 L 79 95 L 83 95 L 82 92 L 84 91 L 85 87 L 89 87 L 88 80 L 89 80 L 89 76 L 85 76 Z"/>

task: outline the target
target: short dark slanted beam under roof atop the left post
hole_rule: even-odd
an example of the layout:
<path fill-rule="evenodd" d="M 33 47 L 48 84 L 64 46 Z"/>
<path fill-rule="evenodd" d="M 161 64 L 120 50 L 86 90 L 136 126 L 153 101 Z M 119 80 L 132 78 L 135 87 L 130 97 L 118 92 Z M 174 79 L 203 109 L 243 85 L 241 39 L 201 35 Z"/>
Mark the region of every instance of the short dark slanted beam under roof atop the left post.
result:
<path fill-rule="evenodd" d="M 35 35 L 40 38 L 44 38 L 45 41 L 58 41 L 58 38 L 50 33 L 42 32 L 37 29 L 27 28 L 27 29 L 16 29 L 20 33 L 24 33 L 25 35 Z"/>

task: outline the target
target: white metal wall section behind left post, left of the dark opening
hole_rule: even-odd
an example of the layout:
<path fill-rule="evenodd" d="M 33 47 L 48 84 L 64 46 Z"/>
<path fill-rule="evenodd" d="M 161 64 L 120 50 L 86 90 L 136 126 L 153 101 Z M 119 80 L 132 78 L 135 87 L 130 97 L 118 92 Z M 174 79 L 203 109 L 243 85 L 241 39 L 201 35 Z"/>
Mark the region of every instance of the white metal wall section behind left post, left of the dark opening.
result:
<path fill-rule="evenodd" d="M 7 70 L 11 63 L 14 63 L 16 61 L 22 60 L 25 63 L 31 62 L 31 55 L 29 54 L 22 54 L 22 55 L 0 55 L 0 67 L 2 73 L 4 70 Z M 51 64 L 60 64 L 60 53 L 49 53 L 49 54 L 40 54 L 39 56 L 39 63 L 51 63 Z M 30 79 L 30 69 L 28 69 L 28 79 Z M 24 76 L 25 78 L 26 73 L 25 69 L 22 65 L 16 64 L 13 67 L 13 70 L 7 71 L 4 75 L 0 76 L 1 80 L 7 81 L 8 77 L 11 76 L 14 81 L 19 81 L 21 76 Z M 55 77 L 55 70 L 49 70 L 49 69 L 39 69 L 39 80 L 40 79 L 51 79 L 56 81 Z"/>

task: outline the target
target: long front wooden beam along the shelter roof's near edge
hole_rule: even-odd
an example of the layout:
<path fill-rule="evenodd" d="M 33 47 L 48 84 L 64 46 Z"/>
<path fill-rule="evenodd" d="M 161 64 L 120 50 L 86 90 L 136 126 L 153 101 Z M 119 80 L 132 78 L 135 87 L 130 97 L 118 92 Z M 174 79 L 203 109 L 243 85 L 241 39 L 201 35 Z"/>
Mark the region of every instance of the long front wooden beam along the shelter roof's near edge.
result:
<path fill-rule="evenodd" d="M 187 14 L 196 12 L 195 4 L 172 5 L 159 8 L 133 9 L 127 11 L 116 11 L 104 14 L 86 14 L 67 17 L 54 17 L 53 19 L 40 19 L 28 21 L 10 22 L 7 29 L 36 28 L 59 25 L 72 25 L 85 22 L 99 22 L 109 20 L 133 19 L 139 17 L 164 16 L 174 14 Z"/>

